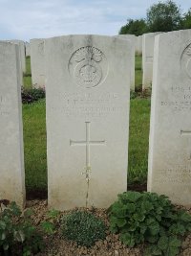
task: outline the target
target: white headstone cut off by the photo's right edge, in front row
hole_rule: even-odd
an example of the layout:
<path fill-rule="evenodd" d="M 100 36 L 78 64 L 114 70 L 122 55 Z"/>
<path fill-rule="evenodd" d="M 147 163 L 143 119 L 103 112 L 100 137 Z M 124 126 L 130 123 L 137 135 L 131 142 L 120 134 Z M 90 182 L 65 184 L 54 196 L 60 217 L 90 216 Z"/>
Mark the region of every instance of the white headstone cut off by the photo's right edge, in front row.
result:
<path fill-rule="evenodd" d="M 191 30 L 156 37 L 148 190 L 191 205 Z"/>

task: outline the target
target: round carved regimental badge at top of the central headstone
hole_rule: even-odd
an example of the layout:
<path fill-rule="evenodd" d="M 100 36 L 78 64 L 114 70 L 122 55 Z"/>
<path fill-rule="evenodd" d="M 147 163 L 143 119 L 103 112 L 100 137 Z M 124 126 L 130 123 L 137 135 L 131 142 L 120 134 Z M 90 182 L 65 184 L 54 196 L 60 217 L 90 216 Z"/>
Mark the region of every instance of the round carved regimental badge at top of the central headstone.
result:
<path fill-rule="evenodd" d="M 84 88 L 95 87 L 107 76 L 107 59 L 96 47 L 82 47 L 70 58 L 69 72 L 78 85 Z"/>

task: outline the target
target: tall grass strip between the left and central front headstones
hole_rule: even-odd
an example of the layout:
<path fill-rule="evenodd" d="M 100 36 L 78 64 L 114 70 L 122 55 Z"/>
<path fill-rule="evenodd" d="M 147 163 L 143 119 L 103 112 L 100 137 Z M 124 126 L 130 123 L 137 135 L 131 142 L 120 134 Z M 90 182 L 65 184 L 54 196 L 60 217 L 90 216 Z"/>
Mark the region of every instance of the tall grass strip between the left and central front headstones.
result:
<path fill-rule="evenodd" d="M 45 100 L 23 105 L 27 190 L 47 189 Z"/>

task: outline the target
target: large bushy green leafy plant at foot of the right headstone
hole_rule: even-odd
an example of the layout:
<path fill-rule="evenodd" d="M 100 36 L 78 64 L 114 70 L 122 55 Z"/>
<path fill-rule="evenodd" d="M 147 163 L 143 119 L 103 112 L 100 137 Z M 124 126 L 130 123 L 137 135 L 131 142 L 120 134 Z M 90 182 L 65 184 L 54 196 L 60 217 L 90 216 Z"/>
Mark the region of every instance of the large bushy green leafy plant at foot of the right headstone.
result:
<path fill-rule="evenodd" d="M 123 244 L 149 244 L 145 255 L 177 255 L 180 238 L 191 231 L 191 215 L 155 193 L 120 194 L 108 213 L 110 229 L 120 234 Z"/>

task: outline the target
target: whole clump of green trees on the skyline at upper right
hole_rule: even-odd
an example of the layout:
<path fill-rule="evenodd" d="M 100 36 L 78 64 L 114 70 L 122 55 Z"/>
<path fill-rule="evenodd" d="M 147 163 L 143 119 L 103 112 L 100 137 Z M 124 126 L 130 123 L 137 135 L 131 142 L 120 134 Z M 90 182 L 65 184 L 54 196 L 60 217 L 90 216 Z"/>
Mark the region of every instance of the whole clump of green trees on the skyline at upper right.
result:
<path fill-rule="evenodd" d="M 170 32 L 191 29 L 191 8 L 182 13 L 180 6 L 171 0 L 159 1 L 146 12 L 145 18 L 127 19 L 119 35 L 143 35 L 152 32 Z"/>

